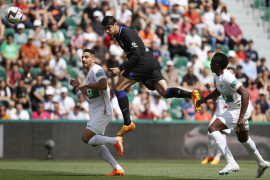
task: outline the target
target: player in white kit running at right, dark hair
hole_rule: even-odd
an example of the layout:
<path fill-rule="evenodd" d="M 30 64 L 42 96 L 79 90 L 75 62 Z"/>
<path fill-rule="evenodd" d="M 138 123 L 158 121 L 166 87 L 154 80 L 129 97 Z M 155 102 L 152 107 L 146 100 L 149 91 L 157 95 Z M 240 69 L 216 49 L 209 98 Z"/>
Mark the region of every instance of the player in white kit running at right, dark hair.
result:
<path fill-rule="evenodd" d="M 256 177 L 259 178 L 270 166 L 270 163 L 262 158 L 254 141 L 248 135 L 248 118 L 251 115 L 252 109 L 252 105 L 249 102 L 249 93 L 243 84 L 226 69 L 228 63 L 228 57 L 223 53 L 215 53 L 212 57 L 211 70 L 217 75 L 215 78 L 216 89 L 208 96 L 197 101 L 197 106 L 206 103 L 208 99 L 217 98 L 220 95 L 222 95 L 229 106 L 229 109 L 219 115 L 208 128 L 209 133 L 215 139 L 219 150 L 227 161 L 227 165 L 219 174 L 224 175 L 239 171 L 239 165 L 234 160 L 227 142 L 221 134 L 221 131 L 231 129 L 236 132 L 238 140 L 246 148 L 249 155 L 255 158 L 258 163 Z"/>

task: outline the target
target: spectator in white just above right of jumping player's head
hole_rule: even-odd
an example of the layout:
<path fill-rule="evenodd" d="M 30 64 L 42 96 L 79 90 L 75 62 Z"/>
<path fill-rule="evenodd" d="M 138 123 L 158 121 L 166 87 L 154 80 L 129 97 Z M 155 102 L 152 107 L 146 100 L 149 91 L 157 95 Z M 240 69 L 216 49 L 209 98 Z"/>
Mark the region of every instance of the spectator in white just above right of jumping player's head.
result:
<path fill-rule="evenodd" d="M 120 26 L 130 27 L 132 23 L 132 12 L 127 4 L 123 3 L 121 9 L 116 9 L 115 19 Z"/>

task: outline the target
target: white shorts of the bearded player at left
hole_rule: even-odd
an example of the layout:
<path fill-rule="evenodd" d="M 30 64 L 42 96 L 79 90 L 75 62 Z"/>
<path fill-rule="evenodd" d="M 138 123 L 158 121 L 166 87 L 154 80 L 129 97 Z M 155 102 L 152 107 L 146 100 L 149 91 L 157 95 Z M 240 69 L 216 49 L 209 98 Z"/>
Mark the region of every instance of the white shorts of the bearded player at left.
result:
<path fill-rule="evenodd" d="M 105 129 L 111 119 L 112 115 L 103 115 L 101 113 L 91 114 L 86 129 L 89 129 L 96 134 L 104 135 Z"/>

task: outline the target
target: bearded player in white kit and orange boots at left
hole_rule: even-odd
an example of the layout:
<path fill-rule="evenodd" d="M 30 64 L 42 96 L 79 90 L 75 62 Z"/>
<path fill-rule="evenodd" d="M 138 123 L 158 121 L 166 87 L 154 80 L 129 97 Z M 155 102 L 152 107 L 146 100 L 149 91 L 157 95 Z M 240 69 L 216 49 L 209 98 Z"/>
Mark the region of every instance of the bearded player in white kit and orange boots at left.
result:
<path fill-rule="evenodd" d="M 104 70 L 95 64 L 95 51 L 85 49 L 82 55 L 83 68 L 86 69 L 86 84 L 77 80 L 70 80 L 70 85 L 77 87 L 90 102 L 90 121 L 83 132 L 83 142 L 92 145 L 102 159 L 107 161 L 113 171 L 106 176 L 124 175 L 124 169 L 116 162 L 105 144 L 113 144 L 118 155 L 123 155 L 122 137 L 104 136 L 105 128 L 112 119 L 112 106 L 110 103 L 110 89 Z"/>

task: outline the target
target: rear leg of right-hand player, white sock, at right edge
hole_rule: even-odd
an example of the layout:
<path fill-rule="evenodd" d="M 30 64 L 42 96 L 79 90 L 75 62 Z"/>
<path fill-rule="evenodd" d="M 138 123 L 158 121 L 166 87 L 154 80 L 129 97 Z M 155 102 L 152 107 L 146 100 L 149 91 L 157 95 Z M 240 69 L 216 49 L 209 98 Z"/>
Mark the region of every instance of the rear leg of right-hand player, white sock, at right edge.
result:
<path fill-rule="evenodd" d="M 256 178 L 260 178 L 264 174 L 264 171 L 270 167 L 270 163 L 262 158 L 256 148 L 254 141 L 251 139 L 251 137 L 248 136 L 247 130 L 241 133 L 236 132 L 236 134 L 239 142 L 241 142 L 242 145 L 246 148 L 248 154 L 253 157 L 258 163 Z"/>

